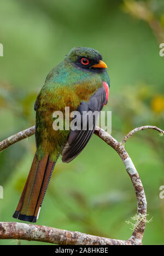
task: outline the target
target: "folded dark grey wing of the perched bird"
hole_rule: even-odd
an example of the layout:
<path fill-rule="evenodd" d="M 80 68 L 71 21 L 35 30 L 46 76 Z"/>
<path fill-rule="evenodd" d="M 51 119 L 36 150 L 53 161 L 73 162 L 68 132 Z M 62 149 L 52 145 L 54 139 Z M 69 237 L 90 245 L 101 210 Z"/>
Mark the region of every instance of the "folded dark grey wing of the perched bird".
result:
<path fill-rule="evenodd" d="M 78 111 L 78 129 L 71 129 L 68 141 L 62 150 L 62 161 L 71 162 L 85 148 L 95 131 L 99 112 L 107 104 L 106 90 L 99 88 L 88 102 L 82 101 Z M 79 129 L 80 126 L 80 129 Z"/>

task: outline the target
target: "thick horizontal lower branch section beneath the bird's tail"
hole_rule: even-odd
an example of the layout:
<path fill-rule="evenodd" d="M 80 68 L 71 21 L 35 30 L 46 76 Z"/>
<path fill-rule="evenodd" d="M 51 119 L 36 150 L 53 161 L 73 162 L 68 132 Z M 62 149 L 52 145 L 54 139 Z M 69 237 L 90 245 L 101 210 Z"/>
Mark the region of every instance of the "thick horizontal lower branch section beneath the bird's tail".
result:
<path fill-rule="evenodd" d="M 0 222 L 1 239 L 41 241 L 57 245 L 133 245 L 133 241 L 113 240 L 77 231 L 67 231 L 18 222 Z"/>

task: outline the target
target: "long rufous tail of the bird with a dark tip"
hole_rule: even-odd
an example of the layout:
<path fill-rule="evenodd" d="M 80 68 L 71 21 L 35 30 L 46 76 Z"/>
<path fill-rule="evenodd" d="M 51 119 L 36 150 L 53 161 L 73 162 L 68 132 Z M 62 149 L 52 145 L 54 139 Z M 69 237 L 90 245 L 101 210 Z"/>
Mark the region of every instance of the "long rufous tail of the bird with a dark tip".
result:
<path fill-rule="evenodd" d="M 49 155 L 44 156 L 40 161 L 37 155 L 34 155 L 24 190 L 13 214 L 14 218 L 27 222 L 37 221 L 55 164 L 56 162 L 51 161 Z"/>

